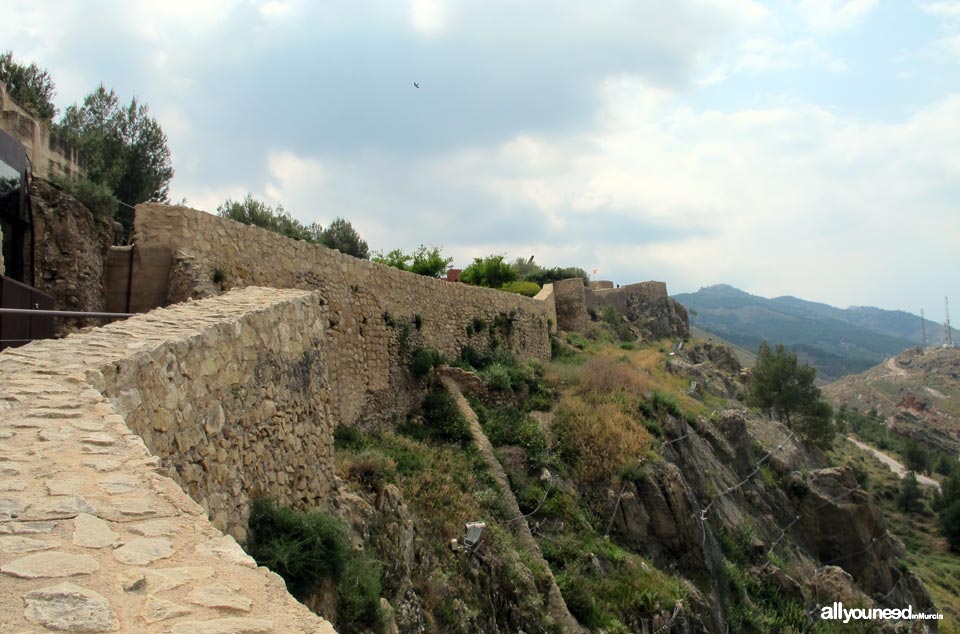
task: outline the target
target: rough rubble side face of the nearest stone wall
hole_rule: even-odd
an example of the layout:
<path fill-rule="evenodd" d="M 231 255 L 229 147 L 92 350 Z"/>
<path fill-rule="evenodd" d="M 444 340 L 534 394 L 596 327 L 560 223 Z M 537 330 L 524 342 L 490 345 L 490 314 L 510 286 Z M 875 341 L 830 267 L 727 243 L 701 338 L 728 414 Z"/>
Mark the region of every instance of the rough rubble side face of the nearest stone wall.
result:
<path fill-rule="evenodd" d="M 300 508 L 330 491 L 326 310 L 316 293 L 251 287 L 155 311 L 151 322 L 160 332 L 176 326 L 174 336 L 109 359 L 88 381 L 213 524 L 242 542 L 251 497 Z M 177 332 L 195 316 L 201 329 Z"/>

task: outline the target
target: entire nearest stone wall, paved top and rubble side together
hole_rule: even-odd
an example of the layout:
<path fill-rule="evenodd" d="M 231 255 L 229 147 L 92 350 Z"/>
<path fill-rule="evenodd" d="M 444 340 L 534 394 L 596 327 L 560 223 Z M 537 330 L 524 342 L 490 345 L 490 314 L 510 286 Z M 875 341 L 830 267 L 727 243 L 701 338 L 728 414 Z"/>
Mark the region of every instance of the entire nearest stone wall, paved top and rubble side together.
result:
<path fill-rule="evenodd" d="M 215 527 L 329 489 L 326 310 L 250 288 L 0 353 L 0 631 L 332 633 Z"/>

